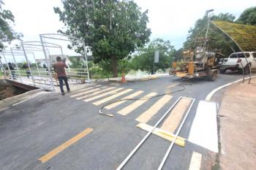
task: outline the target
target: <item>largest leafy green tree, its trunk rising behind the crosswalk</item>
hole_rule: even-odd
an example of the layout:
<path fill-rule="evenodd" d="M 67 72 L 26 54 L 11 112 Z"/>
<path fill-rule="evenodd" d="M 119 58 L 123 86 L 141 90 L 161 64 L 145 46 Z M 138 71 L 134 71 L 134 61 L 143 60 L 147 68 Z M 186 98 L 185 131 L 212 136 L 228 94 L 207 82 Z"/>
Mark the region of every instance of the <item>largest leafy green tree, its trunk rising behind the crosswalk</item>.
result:
<path fill-rule="evenodd" d="M 126 58 L 148 42 L 147 10 L 140 12 L 134 1 L 64 0 L 64 10 L 55 7 L 67 26 L 61 33 L 82 38 L 94 56 L 94 62 L 110 60 L 113 77 L 117 77 L 118 60 Z M 83 46 L 74 44 L 78 53 Z"/>

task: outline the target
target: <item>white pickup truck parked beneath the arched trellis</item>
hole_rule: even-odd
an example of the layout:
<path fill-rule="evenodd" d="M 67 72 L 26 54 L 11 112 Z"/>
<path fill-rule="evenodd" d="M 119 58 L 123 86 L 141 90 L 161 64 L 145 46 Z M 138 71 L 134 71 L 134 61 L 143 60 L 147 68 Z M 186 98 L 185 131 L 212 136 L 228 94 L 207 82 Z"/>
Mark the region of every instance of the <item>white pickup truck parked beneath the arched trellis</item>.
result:
<path fill-rule="evenodd" d="M 256 69 L 256 52 L 244 52 L 244 55 L 239 52 L 232 53 L 228 58 L 223 58 L 220 62 L 219 72 L 225 73 L 229 69 L 231 71 L 238 70 L 238 72 L 243 73 L 244 68 L 244 74 L 249 74 L 248 63 L 251 69 Z"/>

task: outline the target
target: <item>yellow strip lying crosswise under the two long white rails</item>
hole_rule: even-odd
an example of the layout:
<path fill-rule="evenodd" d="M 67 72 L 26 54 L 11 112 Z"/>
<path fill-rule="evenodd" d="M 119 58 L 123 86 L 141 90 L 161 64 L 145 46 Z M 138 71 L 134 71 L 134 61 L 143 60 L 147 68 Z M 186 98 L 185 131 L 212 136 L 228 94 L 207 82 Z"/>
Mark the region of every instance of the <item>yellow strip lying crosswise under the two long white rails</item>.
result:
<path fill-rule="evenodd" d="M 151 131 L 153 129 L 153 126 L 147 125 L 145 123 L 139 123 L 138 125 L 136 125 L 136 127 L 141 128 L 145 131 Z M 152 134 L 162 137 L 163 139 L 166 139 L 170 142 L 172 142 L 173 139 L 175 138 L 174 134 L 172 134 L 168 131 L 162 130 L 161 128 L 155 128 L 154 131 L 152 132 Z M 175 144 L 178 144 L 178 146 L 181 146 L 181 147 L 185 147 L 185 140 L 186 139 L 178 136 L 175 141 Z"/>

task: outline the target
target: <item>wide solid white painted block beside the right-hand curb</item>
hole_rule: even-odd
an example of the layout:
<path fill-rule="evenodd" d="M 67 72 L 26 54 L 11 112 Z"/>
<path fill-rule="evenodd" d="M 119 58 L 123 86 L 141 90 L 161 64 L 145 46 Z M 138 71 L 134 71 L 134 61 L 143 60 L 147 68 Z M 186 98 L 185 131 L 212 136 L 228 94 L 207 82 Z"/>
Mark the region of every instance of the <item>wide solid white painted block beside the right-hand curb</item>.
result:
<path fill-rule="evenodd" d="M 216 103 L 199 101 L 188 140 L 208 150 L 218 152 Z"/>

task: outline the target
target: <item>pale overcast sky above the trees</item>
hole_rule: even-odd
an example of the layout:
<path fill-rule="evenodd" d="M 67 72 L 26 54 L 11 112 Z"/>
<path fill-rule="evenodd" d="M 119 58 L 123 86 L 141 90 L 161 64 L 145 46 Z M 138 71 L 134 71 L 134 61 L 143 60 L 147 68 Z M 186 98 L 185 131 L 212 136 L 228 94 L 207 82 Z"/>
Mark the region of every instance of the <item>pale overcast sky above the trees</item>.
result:
<path fill-rule="evenodd" d="M 214 14 L 230 12 L 238 18 L 241 12 L 256 5 L 255 0 L 135 0 L 142 10 L 148 9 L 148 28 L 151 39 L 170 40 L 176 49 L 182 47 L 190 27 L 202 18 L 207 9 Z M 4 0 L 4 9 L 15 15 L 15 31 L 23 33 L 24 41 L 39 40 L 39 34 L 56 33 L 63 26 L 53 7 L 61 7 L 61 0 Z"/>

